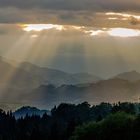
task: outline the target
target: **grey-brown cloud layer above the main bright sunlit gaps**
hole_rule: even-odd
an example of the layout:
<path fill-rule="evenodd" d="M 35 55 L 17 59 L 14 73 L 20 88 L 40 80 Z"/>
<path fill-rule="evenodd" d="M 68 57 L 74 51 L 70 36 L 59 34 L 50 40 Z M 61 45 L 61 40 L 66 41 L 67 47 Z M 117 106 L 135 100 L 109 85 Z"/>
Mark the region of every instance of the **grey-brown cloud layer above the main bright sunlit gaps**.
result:
<path fill-rule="evenodd" d="M 140 21 L 105 13 L 140 13 L 138 0 L 0 0 L 0 23 L 140 28 Z M 113 19 L 114 18 L 114 19 Z M 125 19 L 125 20 L 124 20 Z"/>

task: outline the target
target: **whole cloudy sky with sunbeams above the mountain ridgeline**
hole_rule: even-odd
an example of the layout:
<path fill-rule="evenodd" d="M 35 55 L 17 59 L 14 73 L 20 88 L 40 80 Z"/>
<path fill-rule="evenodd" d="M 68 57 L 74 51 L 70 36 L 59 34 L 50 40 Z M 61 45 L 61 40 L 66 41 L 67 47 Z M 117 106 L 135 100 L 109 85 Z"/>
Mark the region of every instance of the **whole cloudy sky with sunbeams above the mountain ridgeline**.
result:
<path fill-rule="evenodd" d="M 107 78 L 140 72 L 139 0 L 0 0 L 0 55 Z"/>

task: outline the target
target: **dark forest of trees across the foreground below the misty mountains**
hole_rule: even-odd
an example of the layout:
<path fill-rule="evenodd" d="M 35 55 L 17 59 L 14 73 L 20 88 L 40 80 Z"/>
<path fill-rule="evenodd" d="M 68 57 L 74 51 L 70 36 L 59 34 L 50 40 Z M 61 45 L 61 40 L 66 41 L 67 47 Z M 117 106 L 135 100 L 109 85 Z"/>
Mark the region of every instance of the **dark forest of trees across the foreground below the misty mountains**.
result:
<path fill-rule="evenodd" d="M 51 115 L 0 110 L 0 140 L 139 140 L 139 103 L 61 103 Z"/>

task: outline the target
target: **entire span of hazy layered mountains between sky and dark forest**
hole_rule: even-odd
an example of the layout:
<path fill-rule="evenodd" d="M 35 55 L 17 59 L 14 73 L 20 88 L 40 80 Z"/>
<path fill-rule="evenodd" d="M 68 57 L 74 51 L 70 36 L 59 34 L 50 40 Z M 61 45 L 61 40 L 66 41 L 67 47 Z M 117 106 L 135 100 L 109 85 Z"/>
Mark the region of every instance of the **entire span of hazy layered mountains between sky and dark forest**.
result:
<path fill-rule="evenodd" d="M 9 104 L 50 108 L 61 102 L 138 101 L 140 96 L 140 74 L 136 71 L 103 80 L 87 73 L 70 74 L 29 62 L 13 66 L 0 58 L 0 76 L 0 99 Z M 8 104 L 0 105 L 8 108 Z"/>

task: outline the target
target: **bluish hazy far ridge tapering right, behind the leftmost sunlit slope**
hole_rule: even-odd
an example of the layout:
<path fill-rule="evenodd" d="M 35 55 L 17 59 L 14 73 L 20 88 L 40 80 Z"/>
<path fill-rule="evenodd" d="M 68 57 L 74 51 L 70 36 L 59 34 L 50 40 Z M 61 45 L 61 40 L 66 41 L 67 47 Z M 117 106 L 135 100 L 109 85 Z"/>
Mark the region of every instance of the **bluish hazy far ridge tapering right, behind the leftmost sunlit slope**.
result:
<path fill-rule="evenodd" d="M 91 83 L 101 80 L 100 77 L 88 73 L 70 74 L 56 69 L 39 67 L 29 62 L 21 63 L 19 68 L 40 77 L 46 84 L 53 84 L 56 86 L 62 84 Z"/>

